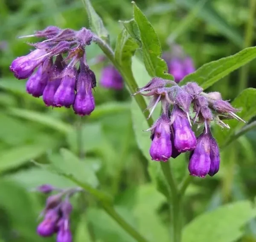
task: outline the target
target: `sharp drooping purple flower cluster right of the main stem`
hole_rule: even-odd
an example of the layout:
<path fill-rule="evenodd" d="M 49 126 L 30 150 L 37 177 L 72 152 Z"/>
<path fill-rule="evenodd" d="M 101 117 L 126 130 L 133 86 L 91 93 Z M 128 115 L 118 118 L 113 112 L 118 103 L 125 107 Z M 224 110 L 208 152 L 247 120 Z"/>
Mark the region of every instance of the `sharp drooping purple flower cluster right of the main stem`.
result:
<path fill-rule="evenodd" d="M 218 172 L 220 153 L 211 134 L 210 122 L 230 128 L 222 120 L 236 118 L 243 121 L 236 115 L 239 109 L 222 100 L 219 92 L 203 92 L 195 82 L 178 86 L 174 81 L 152 78 L 136 94 L 152 96 L 147 107 L 152 108 L 149 117 L 157 103 L 162 104 L 160 118 L 148 129 L 151 130 L 149 153 L 152 160 L 167 161 L 190 151 L 189 172 L 192 176 L 213 176 Z M 192 130 L 191 120 L 199 127 L 204 125 L 198 138 Z"/>

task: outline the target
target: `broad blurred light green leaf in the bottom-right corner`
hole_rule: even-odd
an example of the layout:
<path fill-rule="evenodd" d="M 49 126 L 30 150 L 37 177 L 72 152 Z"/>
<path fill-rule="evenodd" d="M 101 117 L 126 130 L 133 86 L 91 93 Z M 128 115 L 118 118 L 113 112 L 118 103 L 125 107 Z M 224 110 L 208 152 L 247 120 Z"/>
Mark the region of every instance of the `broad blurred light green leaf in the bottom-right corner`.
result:
<path fill-rule="evenodd" d="M 224 205 L 196 217 L 183 229 L 183 242 L 233 242 L 243 232 L 240 230 L 256 216 L 248 201 Z"/>

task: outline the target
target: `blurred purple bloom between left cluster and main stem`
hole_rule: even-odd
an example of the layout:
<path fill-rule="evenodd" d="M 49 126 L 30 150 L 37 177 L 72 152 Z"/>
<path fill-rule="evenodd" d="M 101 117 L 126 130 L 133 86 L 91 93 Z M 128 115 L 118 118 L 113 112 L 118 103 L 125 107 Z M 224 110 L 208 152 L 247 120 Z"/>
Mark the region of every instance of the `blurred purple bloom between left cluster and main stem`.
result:
<path fill-rule="evenodd" d="M 116 89 L 116 90 L 122 89 L 124 86 L 122 76 L 116 70 L 116 68 L 111 65 L 103 68 L 100 84 L 105 88 Z"/>

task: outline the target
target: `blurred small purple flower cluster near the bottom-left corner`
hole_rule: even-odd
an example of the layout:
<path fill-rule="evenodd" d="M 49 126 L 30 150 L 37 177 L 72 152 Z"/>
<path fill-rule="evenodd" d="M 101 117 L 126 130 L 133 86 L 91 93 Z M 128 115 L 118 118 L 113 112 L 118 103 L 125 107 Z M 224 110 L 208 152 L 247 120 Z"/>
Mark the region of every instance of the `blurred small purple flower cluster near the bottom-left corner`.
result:
<path fill-rule="evenodd" d="M 43 221 L 37 227 L 38 235 L 49 237 L 56 233 L 56 242 L 72 242 L 70 231 L 70 213 L 73 210 L 69 202 L 70 196 L 81 191 L 80 188 L 61 190 L 49 184 L 41 185 L 37 188 L 41 193 L 49 194 L 53 191 L 59 193 L 47 198 L 46 206 L 41 213 Z M 63 199 L 63 197 L 65 198 Z"/>

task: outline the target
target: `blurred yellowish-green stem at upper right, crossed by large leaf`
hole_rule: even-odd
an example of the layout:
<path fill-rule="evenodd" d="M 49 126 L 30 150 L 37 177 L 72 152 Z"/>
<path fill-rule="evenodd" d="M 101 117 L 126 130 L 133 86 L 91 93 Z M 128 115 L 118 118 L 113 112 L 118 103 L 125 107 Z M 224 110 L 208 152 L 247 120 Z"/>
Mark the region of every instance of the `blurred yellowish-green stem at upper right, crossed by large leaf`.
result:
<path fill-rule="evenodd" d="M 253 22 L 256 9 L 256 0 L 250 0 L 249 18 L 245 30 L 244 48 L 250 47 L 253 41 Z M 249 64 L 243 66 L 239 73 L 239 92 L 247 87 Z"/>

